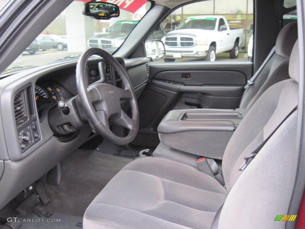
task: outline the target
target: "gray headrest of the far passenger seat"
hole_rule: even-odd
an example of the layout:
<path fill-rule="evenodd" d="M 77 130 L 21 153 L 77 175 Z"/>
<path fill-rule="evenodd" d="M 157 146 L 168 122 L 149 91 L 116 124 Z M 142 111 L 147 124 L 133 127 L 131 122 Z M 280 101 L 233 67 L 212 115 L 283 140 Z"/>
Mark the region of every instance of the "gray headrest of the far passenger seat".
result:
<path fill-rule="evenodd" d="M 291 22 L 285 25 L 278 34 L 275 52 L 280 56 L 289 58 L 296 39 L 298 39 L 298 24 Z"/>

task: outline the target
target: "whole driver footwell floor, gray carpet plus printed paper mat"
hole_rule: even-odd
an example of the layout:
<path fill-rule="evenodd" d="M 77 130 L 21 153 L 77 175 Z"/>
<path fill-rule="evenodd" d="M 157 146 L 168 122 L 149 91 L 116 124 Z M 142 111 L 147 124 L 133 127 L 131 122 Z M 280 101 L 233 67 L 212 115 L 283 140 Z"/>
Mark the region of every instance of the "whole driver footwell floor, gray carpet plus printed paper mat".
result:
<path fill-rule="evenodd" d="M 21 229 L 81 228 L 83 215 L 88 205 L 112 177 L 131 161 L 131 159 L 104 154 L 97 150 L 74 151 L 63 161 L 65 170 L 59 186 L 48 185 L 46 175 L 40 179 L 50 197 L 48 205 L 36 207 L 25 217 L 25 219 L 55 218 L 61 219 L 61 222 L 26 222 L 22 223 Z M 1 209 L 0 218 L 16 217 L 17 205 L 19 205 L 18 201 L 12 200 Z M 20 215 L 18 217 L 23 219 Z"/>

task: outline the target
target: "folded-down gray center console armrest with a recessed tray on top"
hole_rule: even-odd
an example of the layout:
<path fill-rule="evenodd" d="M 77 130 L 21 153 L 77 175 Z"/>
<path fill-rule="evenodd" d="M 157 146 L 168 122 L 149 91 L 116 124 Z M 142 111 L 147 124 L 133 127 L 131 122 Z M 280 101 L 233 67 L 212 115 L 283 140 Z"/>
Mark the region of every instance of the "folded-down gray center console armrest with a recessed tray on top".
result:
<path fill-rule="evenodd" d="M 187 109 L 170 111 L 158 133 L 170 148 L 222 159 L 225 147 L 248 109 Z"/>

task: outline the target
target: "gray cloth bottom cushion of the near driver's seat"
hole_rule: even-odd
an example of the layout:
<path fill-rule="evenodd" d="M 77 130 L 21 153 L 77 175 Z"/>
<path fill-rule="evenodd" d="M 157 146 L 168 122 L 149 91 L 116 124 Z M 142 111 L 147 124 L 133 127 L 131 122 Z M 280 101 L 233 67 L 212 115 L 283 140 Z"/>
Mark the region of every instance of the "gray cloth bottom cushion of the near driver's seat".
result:
<path fill-rule="evenodd" d="M 113 228 L 209 228 L 226 194 L 215 179 L 192 167 L 141 158 L 93 200 L 84 228 L 112 228 L 114 222 Z"/>

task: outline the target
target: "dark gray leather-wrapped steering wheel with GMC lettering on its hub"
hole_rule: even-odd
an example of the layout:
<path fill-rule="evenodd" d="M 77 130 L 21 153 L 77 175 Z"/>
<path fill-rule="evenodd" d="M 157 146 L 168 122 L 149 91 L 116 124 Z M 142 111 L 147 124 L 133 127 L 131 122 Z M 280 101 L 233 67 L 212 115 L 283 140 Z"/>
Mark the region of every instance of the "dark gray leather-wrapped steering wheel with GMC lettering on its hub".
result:
<path fill-rule="evenodd" d="M 87 61 L 92 55 L 104 58 L 114 67 L 122 79 L 125 89 L 106 83 L 95 83 L 87 88 Z M 79 103 L 92 127 L 107 140 L 123 145 L 134 140 L 139 127 L 139 109 L 135 92 L 127 73 L 119 62 L 103 49 L 90 48 L 79 58 L 76 66 L 76 86 Z M 129 100 L 131 105 L 130 118 L 122 109 L 121 101 Z M 126 137 L 119 137 L 110 130 L 110 123 L 126 127 L 129 133 Z"/>

